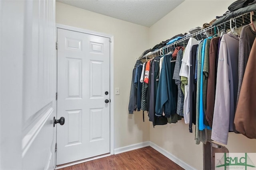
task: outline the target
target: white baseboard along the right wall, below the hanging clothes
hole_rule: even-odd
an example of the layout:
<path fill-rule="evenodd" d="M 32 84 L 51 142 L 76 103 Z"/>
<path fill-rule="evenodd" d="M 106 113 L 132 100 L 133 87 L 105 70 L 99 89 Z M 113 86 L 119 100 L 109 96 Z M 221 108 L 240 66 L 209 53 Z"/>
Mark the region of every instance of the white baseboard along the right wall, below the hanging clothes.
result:
<path fill-rule="evenodd" d="M 158 152 L 160 152 L 161 154 L 163 154 L 164 156 L 166 156 L 167 158 L 169 158 L 170 160 L 172 160 L 173 162 L 175 162 L 176 164 L 178 164 L 179 166 L 181 166 L 185 170 L 196 170 L 194 167 L 192 167 L 189 164 L 187 164 L 186 162 L 180 160 L 179 158 L 177 158 L 176 156 L 174 156 L 173 154 L 171 154 L 167 150 L 162 149 L 161 147 L 152 143 L 151 141 L 149 143 L 149 146 L 154 148 L 155 150 L 157 150 Z"/>

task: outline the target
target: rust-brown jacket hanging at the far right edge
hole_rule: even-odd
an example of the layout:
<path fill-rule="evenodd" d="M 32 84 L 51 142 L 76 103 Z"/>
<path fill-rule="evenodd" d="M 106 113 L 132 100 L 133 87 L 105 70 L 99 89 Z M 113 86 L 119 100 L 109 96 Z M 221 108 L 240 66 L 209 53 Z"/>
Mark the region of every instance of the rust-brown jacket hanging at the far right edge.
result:
<path fill-rule="evenodd" d="M 238 132 L 256 139 L 256 39 L 244 72 L 234 125 Z"/>

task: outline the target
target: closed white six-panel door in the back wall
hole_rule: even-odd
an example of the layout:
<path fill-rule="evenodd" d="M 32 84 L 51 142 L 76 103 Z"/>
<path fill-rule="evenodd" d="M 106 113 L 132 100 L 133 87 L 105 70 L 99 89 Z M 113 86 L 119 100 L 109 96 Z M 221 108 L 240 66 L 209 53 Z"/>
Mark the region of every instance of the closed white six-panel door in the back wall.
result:
<path fill-rule="evenodd" d="M 110 39 L 57 29 L 57 165 L 110 152 Z"/>

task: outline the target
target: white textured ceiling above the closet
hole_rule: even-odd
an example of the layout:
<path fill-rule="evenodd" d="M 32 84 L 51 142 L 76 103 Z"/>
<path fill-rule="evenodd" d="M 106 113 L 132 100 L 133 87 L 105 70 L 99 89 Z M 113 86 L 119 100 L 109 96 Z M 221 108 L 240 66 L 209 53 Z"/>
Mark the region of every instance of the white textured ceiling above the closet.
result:
<path fill-rule="evenodd" d="M 136 23 L 152 26 L 184 0 L 56 0 L 64 4 Z"/>

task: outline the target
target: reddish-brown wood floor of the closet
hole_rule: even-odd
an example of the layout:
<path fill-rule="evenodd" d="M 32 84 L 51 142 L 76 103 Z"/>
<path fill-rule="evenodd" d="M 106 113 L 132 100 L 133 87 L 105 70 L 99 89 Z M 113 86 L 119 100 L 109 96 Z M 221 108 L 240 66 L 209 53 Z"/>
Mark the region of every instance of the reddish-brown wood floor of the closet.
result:
<path fill-rule="evenodd" d="M 152 147 L 145 147 L 60 170 L 183 170 L 183 168 Z"/>

